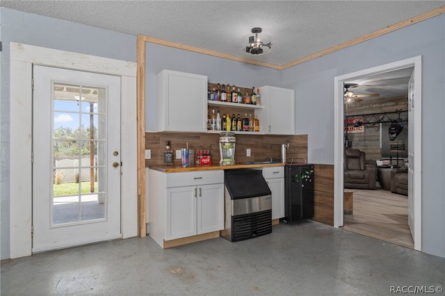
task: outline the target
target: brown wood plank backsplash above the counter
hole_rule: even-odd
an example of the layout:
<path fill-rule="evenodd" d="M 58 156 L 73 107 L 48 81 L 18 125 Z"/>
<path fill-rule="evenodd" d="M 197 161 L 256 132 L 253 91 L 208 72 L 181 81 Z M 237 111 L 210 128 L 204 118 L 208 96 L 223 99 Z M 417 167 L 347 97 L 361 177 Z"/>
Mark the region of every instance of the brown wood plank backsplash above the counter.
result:
<path fill-rule="evenodd" d="M 235 146 L 235 161 L 266 161 L 267 158 L 281 158 L 281 145 L 289 140 L 289 149 L 286 149 L 288 161 L 307 161 L 307 135 L 258 135 L 254 132 L 246 132 L 245 135 L 237 133 Z M 163 153 L 165 142 L 170 140 L 171 149 L 175 156 L 175 150 L 185 148 L 186 143 L 190 149 L 210 150 L 212 163 L 219 163 L 219 133 L 145 133 L 145 149 L 150 149 L 152 158 L 145 161 L 145 166 L 163 165 Z M 251 150 L 251 156 L 246 155 L 246 149 Z M 180 164 L 180 159 L 174 163 Z"/>

